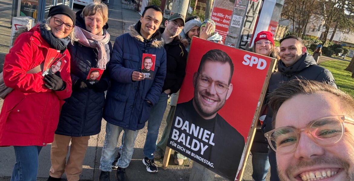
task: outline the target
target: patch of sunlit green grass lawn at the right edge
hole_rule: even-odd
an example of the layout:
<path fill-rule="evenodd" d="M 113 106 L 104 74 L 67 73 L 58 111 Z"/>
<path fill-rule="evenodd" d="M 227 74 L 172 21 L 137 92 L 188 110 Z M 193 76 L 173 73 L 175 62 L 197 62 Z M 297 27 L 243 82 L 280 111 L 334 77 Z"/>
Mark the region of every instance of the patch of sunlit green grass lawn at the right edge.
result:
<path fill-rule="evenodd" d="M 333 60 L 322 62 L 320 66 L 325 67 L 332 72 L 338 89 L 341 89 L 354 97 L 354 78 L 351 77 L 351 72 L 344 70 L 348 64 L 349 62 L 347 61 Z"/>

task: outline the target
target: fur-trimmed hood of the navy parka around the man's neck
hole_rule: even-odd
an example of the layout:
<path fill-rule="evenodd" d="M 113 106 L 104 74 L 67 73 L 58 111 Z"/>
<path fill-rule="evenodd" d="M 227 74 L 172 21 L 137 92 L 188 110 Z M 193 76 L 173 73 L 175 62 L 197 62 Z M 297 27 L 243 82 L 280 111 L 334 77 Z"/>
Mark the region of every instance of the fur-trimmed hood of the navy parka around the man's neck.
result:
<path fill-rule="evenodd" d="M 135 39 L 137 39 L 140 42 L 147 42 L 151 43 L 151 47 L 153 48 L 163 48 L 164 47 L 164 40 L 161 38 L 161 33 L 160 31 L 156 31 L 154 35 L 152 35 L 151 41 L 146 40 L 143 36 L 139 34 L 137 29 L 140 29 L 141 23 L 138 22 L 137 24 L 130 25 L 129 26 L 129 35 Z"/>

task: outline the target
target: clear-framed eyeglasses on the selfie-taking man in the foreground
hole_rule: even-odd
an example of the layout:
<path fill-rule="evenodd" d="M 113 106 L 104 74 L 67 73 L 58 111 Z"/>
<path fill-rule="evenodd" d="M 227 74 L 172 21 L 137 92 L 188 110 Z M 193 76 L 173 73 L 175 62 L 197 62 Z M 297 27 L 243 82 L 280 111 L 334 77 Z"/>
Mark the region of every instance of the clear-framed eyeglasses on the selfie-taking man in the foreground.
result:
<path fill-rule="evenodd" d="M 338 143 L 344 135 L 344 123 L 354 123 L 347 116 L 329 116 L 313 120 L 305 128 L 280 127 L 264 134 L 268 143 L 277 153 L 291 153 L 299 144 L 300 132 L 308 134 L 316 144 L 327 146 Z"/>

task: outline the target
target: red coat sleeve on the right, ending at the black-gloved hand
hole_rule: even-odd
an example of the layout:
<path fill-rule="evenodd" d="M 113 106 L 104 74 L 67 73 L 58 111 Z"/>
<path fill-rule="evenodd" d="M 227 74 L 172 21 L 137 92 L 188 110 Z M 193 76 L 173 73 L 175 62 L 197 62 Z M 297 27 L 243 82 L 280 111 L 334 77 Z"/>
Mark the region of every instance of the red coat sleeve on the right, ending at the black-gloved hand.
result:
<path fill-rule="evenodd" d="M 54 91 L 56 95 L 58 96 L 59 99 L 66 99 L 71 96 L 71 93 L 73 92 L 72 90 L 72 82 L 70 78 L 70 54 L 68 50 L 65 50 L 64 52 L 66 55 L 64 57 L 64 60 L 66 60 L 66 64 L 63 68 L 63 70 L 60 72 L 60 76 L 62 77 L 63 81 L 66 84 L 66 87 L 62 91 Z"/>

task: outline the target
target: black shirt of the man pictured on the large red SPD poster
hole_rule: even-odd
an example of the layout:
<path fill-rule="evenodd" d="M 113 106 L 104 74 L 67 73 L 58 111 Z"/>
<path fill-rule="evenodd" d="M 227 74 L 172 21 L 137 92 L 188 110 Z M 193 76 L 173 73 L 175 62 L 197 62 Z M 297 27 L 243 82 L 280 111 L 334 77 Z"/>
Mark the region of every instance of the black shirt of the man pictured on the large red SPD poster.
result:
<path fill-rule="evenodd" d="M 203 119 L 192 102 L 193 99 L 177 104 L 167 145 L 216 174 L 234 180 L 245 147 L 244 137 L 219 114 Z"/>

